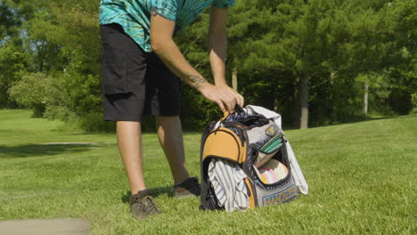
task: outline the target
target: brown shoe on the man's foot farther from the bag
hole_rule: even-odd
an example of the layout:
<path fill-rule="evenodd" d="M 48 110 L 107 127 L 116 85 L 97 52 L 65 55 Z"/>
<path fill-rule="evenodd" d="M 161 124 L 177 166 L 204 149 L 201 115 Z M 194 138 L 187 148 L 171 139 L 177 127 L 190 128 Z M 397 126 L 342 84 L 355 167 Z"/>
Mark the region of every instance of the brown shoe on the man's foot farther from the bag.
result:
<path fill-rule="evenodd" d="M 130 197 L 130 212 L 137 220 L 142 220 L 150 215 L 159 214 L 159 208 L 151 197 L 150 190 L 141 190 Z"/>

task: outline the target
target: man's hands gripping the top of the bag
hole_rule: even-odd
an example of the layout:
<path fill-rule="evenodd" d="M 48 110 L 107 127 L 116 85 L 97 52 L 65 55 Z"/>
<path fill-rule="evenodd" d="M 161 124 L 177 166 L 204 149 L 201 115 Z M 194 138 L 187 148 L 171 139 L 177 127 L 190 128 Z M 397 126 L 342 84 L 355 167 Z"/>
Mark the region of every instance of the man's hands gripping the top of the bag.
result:
<path fill-rule="evenodd" d="M 216 102 L 218 107 L 224 112 L 229 111 L 229 113 L 233 113 L 236 104 L 243 107 L 244 100 L 241 94 L 227 85 L 217 86 L 204 83 L 200 85 L 198 90 L 206 99 Z"/>

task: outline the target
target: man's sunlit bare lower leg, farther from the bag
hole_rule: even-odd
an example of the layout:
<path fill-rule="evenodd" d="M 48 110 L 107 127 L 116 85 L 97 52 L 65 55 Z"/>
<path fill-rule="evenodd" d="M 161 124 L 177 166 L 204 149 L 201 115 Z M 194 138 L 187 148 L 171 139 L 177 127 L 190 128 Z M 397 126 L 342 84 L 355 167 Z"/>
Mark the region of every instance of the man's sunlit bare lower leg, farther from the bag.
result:
<path fill-rule="evenodd" d="M 145 190 L 143 180 L 143 149 L 140 122 L 119 121 L 116 123 L 119 152 L 125 165 L 132 194 Z"/>

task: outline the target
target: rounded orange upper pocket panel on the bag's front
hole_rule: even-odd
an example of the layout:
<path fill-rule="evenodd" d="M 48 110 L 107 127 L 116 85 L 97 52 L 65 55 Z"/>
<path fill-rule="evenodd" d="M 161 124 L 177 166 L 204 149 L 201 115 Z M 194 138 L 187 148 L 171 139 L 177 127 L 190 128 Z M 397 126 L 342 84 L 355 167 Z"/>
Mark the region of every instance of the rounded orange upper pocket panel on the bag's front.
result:
<path fill-rule="evenodd" d="M 241 146 L 241 140 L 233 131 L 219 127 L 208 134 L 202 151 L 202 160 L 208 156 L 230 159 L 236 163 L 242 163 L 246 159 L 245 146 Z"/>

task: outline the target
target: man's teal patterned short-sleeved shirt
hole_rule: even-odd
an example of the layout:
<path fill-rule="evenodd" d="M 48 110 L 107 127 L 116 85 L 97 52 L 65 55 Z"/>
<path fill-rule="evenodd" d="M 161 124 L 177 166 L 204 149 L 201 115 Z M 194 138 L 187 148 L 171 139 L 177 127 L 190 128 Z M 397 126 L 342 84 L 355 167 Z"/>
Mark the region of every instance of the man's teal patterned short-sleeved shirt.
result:
<path fill-rule="evenodd" d="M 150 53 L 151 10 L 176 21 L 176 31 L 179 31 L 211 4 L 228 8 L 234 0 L 102 0 L 100 24 L 118 23 L 143 51 Z"/>

